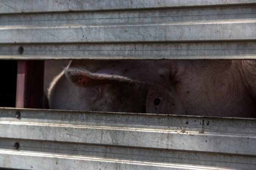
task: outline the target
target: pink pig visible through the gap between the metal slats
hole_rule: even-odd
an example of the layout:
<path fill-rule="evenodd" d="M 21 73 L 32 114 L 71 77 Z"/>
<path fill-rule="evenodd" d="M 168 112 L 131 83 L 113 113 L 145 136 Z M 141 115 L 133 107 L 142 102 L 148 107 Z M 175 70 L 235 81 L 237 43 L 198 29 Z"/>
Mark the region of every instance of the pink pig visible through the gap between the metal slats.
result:
<path fill-rule="evenodd" d="M 49 91 L 50 103 L 57 109 L 132 111 L 128 107 L 116 107 L 126 105 L 133 108 L 132 112 L 221 117 L 256 115 L 255 60 L 76 60 L 60 77 Z M 107 109 L 100 104 L 96 105 L 98 109 L 90 107 L 94 104 L 93 97 L 99 94 L 92 92 L 95 88 L 105 90 L 100 103 L 108 105 Z M 113 92 L 113 88 L 117 90 Z M 57 89 L 61 92 L 56 93 Z M 68 95 L 61 96 L 64 91 L 68 91 Z M 87 96 L 81 96 L 82 91 Z M 135 102 L 127 99 L 131 96 Z M 64 102 L 65 98 L 70 100 Z"/>

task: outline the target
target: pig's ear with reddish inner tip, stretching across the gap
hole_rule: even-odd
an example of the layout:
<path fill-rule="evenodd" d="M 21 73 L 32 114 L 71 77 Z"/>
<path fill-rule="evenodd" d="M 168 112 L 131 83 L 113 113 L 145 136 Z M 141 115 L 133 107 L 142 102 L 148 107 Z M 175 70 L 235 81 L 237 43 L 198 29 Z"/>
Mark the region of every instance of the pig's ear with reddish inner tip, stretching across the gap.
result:
<path fill-rule="evenodd" d="M 66 68 L 65 75 L 69 81 L 80 87 L 88 87 L 99 83 L 109 82 L 145 83 L 127 76 L 107 73 L 92 73 L 88 70 L 79 68 Z"/>

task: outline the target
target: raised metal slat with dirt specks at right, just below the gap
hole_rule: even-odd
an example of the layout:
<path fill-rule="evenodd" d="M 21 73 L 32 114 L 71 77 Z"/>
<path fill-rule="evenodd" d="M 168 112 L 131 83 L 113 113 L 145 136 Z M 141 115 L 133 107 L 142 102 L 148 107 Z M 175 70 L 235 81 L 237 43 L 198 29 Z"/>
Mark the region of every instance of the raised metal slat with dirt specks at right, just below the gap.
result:
<path fill-rule="evenodd" d="M 27 113 L 29 113 L 28 117 L 32 114 L 36 114 L 37 117 L 25 118 Z M 73 115 L 66 119 L 61 118 L 60 120 L 55 117 L 64 117 L 64 115 L 69 114 Z M 221 126 L 216 126 L 212 125 L 210 118 L 200 120 L 201 117 L 186 117 L 187 124 L 185 124 L 184 119 L 181 122 L 179 118 L 174 118 L 175 116 L 154 115 L 155 117 L 152 117 L 153 115 L 150 114 L 108 115 L 102 113 L 77 113 L 76 116 L 74 115 L 73 112 L 43 111 L 33 113 L 33 111 L 24 110 L 20 121 L 11 117 L 1 118 L 0 125 L 3 133 L 0 137 L 229 154 L 240 153 L 243 155 L 256 153 L 256 150 L 251 148 L 256 142 L 254 136 L 256 127 L 253 124 L 255 119 L 242 119 L 242 122 L 238 120 L 235 123 L 231 123 L 232 119 L 227 119 L 226 122 L 222 122 Z M 135 118 L 137 121 L 133 122 Z M 149 125 L 148 122 L 151 122 L 152 125 Z M 239 125 L 237 125 L 238 123 Z M 232 130 L 218 130 L 223 127 Z M 245 127 L 247 127 L 247 133 L 240 133 L 238 129 Z M 198 144 L 198 142 L 200 145 L 193 145 Z M 244 147 L 240 147 L 241 143 L 245 144 Z"/>

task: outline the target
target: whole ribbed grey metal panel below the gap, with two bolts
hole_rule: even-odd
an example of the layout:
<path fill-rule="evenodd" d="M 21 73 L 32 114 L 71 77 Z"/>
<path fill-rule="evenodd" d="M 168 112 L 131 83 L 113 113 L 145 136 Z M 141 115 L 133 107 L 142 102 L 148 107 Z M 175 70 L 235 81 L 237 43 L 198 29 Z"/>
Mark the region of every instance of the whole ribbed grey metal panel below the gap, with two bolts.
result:
<path fill-rule="evenodd" d="M 5 168 L 256 165 L 256 119 L 0 108 L 0 129 L 0 167 Z"/>

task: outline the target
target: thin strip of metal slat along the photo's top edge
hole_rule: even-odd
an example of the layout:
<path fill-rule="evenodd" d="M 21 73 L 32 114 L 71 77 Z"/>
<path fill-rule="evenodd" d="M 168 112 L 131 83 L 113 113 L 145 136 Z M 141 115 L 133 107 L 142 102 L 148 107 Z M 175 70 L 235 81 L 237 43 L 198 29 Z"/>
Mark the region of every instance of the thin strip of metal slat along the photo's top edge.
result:
<path fill-rule="evenodd" d="M 191 6 L 216 6 L 216 5 L 247 5 L 255 4 L 255 0 L 204 0 L 204 1 L 179 1 L 179 0 L 147 0 L 124 1 L 119 0 L 0 0 L 0 13 L 30 13 L 30 12 L 62 12 L 62 11 L 98 11 L 98 10 L 124 10 L 147 8 L 175 8 Z"/>

